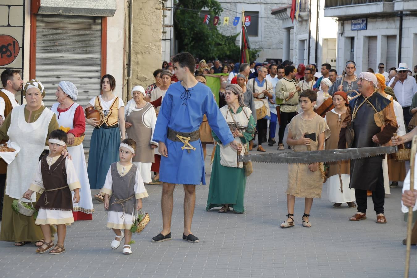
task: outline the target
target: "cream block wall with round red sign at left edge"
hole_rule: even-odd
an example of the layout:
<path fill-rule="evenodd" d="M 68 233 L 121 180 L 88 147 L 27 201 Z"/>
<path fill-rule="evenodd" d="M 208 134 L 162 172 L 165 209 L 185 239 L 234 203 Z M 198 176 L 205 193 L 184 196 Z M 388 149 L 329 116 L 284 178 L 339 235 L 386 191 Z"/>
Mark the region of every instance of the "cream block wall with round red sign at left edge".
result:
<path fill-rule="evenodd" d="M 24 5 L 25 0 L 0 0 L 0 73 L 23 71 Z"/>

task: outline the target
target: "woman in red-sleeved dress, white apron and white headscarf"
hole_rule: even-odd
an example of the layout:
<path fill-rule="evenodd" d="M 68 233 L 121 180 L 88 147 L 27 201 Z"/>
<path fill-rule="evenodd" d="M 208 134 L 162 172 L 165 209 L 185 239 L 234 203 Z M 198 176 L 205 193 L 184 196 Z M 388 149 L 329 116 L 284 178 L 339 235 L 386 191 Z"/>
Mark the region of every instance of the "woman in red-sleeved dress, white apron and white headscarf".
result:
<path fill-rule="evenodd" d="M 72 145 L 75 137 L 80 137 L 85 132 L 83 107 L 74 102 L 78 96 L 77 87 L 71 82 L 61 81 L 55 95 L 58 103 L 52 105 L 51 111 L 55 113 L 60 128 L 67 133 L 68 145 Z M 91 198 L 90 182 L 88 181 L 87 166 L 85 165 L 83 143 L 68 147 L 68 152 L 73 158 L 75 172 L 81 183 L 80 202 L 73 203 L 74 220 L 92 220 L 94 213 L 93 199 Z"/>

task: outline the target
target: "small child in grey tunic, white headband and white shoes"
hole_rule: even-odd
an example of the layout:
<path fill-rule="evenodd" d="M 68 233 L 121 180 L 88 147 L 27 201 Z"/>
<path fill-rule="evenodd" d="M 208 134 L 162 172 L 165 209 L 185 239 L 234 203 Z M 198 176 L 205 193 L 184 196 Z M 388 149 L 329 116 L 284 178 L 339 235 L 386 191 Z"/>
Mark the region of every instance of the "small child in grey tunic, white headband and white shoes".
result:
<path fill-rule="evenodd" d="M 122 141 L 119 147 L 120 161 L 110 165 L 101 189 L 104 195 L 104 208 L 108 210 L 107 228 L 112 228 L 116 234 L 111 242 L 111 248 L 118 248 L 124 238 L 122 253 L 125 255 L 132 253 L 129 245 L 132 238 L 130 228 L 135 220 L 136 211 L 142 208 L 142 198 L 148 197 L 141 173 L 132 163 L 135 150 L 135 140 L 126 138 Z"/>

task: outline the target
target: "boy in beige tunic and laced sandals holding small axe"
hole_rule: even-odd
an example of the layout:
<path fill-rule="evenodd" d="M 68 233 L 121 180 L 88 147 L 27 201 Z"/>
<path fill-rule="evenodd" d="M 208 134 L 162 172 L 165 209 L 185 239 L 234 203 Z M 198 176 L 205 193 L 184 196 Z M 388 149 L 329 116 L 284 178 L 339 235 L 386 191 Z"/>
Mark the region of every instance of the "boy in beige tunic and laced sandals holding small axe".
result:
<path fill-rule="evenodd" d="M 303 113 L 296 115 L 288 125 L 288 137 L 286 143 L 292 145 L 296 152 L 307 150 L 324 150 L 324 140 L 329 138 L 330 129 L 326 121 L 314 112 L 317 93 L 313 90 L 305 90 L 300 94 L 300 104 Z M 305 133 L 315 133 L 317 140 L 305 138 Z M 302 224 L 306 228 L 311 227 L 309 222 L 313 198 L 322 196 L 323 163 L 289 164 L 287 186 L 287 220 L 281 224 L 281 228 L 294 226 L 295 197 L 305 198 L 304 215 Z"/>

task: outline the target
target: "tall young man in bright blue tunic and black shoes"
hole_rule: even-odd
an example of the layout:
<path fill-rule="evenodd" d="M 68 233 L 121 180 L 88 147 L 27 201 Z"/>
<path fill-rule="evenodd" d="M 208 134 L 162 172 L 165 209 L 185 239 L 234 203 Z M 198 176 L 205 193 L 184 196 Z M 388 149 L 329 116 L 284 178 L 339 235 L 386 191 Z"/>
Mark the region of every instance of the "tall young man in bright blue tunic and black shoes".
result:
<path fill-rule="evenodd" d="M 173 58 L 173 63 L 175 74 L 181 81 L 168 88 L 153 133 L 153 140 L 159 142 L 161 153 L 159 180 L 163 182 L 163 229 L 152 238 L 152 242 L 171 239 L 173 191 L 176 184 L 183 184 L 185 192 L 183 239 L 198 242 L 198 238 L 191 233 L 191 222 L 196 202 L 196 184 L 206 184 L 198 129 L 203 114 L 206 114 L 211 129 L 224 145 L 230 143 L 239 151 L 242 146 L 234 140 L 210 88 L 194 78 L 194 57 L 188 52 L 179 53 Z"/>

